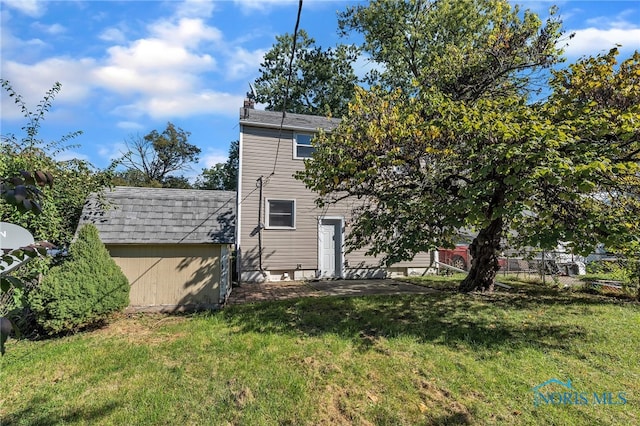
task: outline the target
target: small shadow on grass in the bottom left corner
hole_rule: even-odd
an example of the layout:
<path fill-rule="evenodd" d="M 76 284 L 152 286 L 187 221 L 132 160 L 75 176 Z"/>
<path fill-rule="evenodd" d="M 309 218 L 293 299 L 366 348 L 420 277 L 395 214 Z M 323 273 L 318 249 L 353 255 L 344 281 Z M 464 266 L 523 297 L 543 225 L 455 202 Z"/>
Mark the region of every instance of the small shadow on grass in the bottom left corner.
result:
<path fill-rule="evenodd" d="M 94 424 L 114 411 L 118 404 L 110 402 L 89 409 L 76 409 L 64 413 L 52 412 L 45 407 L 50 405 L 50 401 L 43 397 L 34 397 L 27 404 L 28 408 L 12 413 L 9 416 L 0 418 L 1 425 L 29 424 L 39 426 L 52 426 L 68 423 Z"/>

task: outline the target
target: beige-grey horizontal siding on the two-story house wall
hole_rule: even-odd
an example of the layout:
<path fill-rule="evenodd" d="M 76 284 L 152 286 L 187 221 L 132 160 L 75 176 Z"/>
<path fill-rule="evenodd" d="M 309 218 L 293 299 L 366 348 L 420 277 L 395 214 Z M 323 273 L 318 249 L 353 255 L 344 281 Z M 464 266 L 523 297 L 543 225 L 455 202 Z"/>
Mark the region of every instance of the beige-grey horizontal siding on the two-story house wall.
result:
<path fill-rule="evenodd" d="M 240 122 L 241 174 L 238 202 L 240 206 L 240 268 L 258 270 L 258 179 L 264 180 L 262 221 L 267 225 L 266 201 L 295 200 L 295 229 L 263 229 L 262 267 L 264 270 L 318 269 L 318 220 L 320 217 L 342 217 L 348 223 L 352 202 L 318 209 L 315 194 L 294 179 L 296 171 L 304 168 L 303 160 L 294 159 L 294 134 L 304 129 L 282 130 L 256 127 Z M 306 133 L 313 133 L 311 129 Z M 278 143 L 278 137 L 280 141 Z M 272 173 L 273 172 L 273 173 Z M 348 228 L 347 228 L 348 232 Z M 253 234 L 253 235 L 252 235 Z M 379 265 L 377 259 L 365 256 L 365 250 L 345 255 L 349 268 Z M 428 266 L 429 254 L 421 254 L 412 262 L 398 266 Z"/>

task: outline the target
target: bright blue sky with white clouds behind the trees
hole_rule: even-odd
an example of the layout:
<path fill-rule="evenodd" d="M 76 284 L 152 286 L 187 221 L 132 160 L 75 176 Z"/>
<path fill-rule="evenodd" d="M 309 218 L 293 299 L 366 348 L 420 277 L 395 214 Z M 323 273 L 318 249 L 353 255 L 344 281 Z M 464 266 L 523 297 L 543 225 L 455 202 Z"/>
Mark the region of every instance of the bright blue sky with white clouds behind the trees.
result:
<path fill-rule="evenodd" d="M 305 0 L 300 28 L 323 48 L 337 35 L 336 12 L 353 1 Z M 361 3 L 361 2 L 360 2 Z M 541 17 L 553 4 L 568 33 L 569 61 L 621 44 L 640 50 L 640 0 L 518 2 Z M 36 1 L 0 0 L 0 75 L 33 109 L 54 82 L 62 91 L 41 129 L 45 140 L 82 130 L 61 154 L 109 165 L 125 139 L 164 130 L 191 132 L 202 149 L 197 175 L 226 159 L 239 137 L 248 83 L 275 37 L 293 33 L 297 0 Z M 2 134 L 24 125 L 2 92 Z"/>

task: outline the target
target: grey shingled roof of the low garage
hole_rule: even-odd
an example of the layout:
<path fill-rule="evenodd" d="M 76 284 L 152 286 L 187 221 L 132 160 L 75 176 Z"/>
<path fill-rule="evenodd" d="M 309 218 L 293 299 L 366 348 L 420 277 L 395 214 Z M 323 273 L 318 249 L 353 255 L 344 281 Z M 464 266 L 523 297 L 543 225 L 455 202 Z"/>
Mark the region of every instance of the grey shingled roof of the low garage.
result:
<path fill-rule="evenodd" d="M 105 244 L 234 243 L 236 193 L 196 189 L 107 189 L 92 194 L 81 226 L 93 223 Z"/>

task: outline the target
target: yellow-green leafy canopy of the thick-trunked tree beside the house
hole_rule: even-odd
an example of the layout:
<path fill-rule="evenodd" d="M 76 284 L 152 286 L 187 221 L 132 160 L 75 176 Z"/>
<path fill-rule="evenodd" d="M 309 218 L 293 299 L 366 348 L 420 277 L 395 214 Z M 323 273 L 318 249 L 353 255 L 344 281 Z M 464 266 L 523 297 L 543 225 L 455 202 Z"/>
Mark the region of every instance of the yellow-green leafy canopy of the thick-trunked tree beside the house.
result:
<path fill-rule="evenodd" d="M 357 90 L 297 178 L 319 204 L 348 198 L 356 206 L 349 247 L 386 263 L 498 219 L 515 245 L 625 247 L 640 235 L 640 86 L 631 78 L 639 66 L 627 60 L 616 71 L 601 61 L 611 58 L 573 64 L 561 90 L 535 104 L 518 95 L 461 100 L 436 88 L 413 97 Z M 600 96 L 609 82 L 615 95 Z"/>

